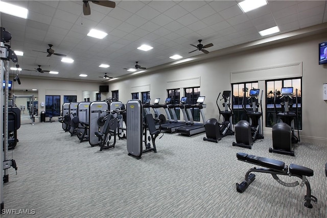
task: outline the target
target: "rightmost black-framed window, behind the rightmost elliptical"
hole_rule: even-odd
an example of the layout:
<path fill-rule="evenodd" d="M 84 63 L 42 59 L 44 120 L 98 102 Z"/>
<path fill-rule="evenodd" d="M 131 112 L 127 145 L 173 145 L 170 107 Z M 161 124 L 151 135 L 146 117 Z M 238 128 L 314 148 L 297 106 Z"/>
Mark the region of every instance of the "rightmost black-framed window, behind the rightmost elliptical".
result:
<path fill-rule="evenodd" d="M 284 106 L 281 105 L 281 89 L 282 87 L 293 87 L 292 101 L 289 111 L 296 113 L 296 90 L 297 90 L 297 108 L 298 108 L 298 122 L 294 120 L 294 128 L 302 129 L 302 81 L 301 78 L 279 79 L 266 81 L 266 127 L 272 127 L 276 123 L 276 112 L 274 110 L 274 92 L 276 92 L 276 109 L 277 112 L 283 112 Z M 298 124 L 297 124 L 298 123 Z M 299 127 L 298 127 L 299 126 Z"/>

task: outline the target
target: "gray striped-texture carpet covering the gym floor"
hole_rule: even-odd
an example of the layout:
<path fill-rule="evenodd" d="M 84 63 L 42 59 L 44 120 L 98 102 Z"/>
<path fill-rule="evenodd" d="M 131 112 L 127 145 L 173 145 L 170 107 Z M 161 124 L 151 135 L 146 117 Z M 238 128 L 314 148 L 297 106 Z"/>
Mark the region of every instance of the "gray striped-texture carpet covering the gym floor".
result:
<path fill-rule="evenodd" d="M 21 125 L 19 142 L 9 152 L 18 171 L 9 169 L 4 203 L 5 209 L 35 214 L 2 217 L 327 217 L 327 144 L 300 142 L 292 157 L 269 153 L 271 139 L 249 150 L 232 147 L 235 136 L 219 143 L 203 136 L 165 134 L 156 140 L 157 153 L 137 160 L 127 155 L 126 140 L 100 152 L 58 122 Z M 285 187 L 263 173 L 237 192 L 236 183 L 255 166 L 237 160 L 237 152 L 312 168 L 308 180 L 317 204 L 303 205 L 306 186 Z"/>

